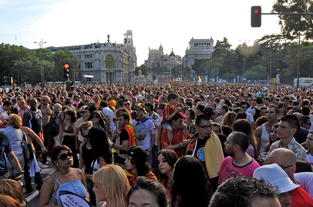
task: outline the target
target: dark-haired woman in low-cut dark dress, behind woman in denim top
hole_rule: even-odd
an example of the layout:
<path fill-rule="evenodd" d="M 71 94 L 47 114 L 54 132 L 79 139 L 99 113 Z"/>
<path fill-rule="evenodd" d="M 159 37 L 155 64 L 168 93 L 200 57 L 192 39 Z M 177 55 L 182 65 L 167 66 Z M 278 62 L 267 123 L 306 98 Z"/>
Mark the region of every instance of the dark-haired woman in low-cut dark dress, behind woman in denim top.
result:
<path fill-rule="evenodd" d="M 62 145 L 68 146 L 71 151 L 74 153 L 74 163 L 73 167 L 77 168 L 78 167 L 78 158 L 77 158 L 77 150 L 76 150 L 76 145 L 75 145 L 75 131 L 76 127 L 75 126 L 77 121 L 77 116 L 76 112 L 74 110 L 67 110 L 65 113 L 65 118 L 64 118 L 64 123 L 63 123 L 63 132 L 62 132 L 62 137 L 63 137 L 63 142 Z"/>

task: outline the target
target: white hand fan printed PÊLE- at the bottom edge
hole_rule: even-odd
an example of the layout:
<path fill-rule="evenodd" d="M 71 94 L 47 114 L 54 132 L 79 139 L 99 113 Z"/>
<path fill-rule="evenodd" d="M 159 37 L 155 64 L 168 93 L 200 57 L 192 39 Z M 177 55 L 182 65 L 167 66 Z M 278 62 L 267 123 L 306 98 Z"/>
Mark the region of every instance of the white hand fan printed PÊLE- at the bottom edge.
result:
<path fill-rule="evenodd" d="M 67 190 L 60 190 L 59 198 L 63 207 L 92 207 L 85 198 Z"/>

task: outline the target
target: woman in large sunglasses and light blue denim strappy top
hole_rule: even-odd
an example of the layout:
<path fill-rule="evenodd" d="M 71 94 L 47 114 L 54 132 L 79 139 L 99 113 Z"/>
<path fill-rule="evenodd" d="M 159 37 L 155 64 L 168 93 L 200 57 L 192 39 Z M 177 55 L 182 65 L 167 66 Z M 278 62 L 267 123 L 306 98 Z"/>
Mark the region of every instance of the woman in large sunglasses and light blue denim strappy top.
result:
<path fill-rule="evenodd" d="M 56 146 L 52 150 L 51 161 L 56 169 L 44 180 L 38 202 L 39 207 L 61 206 L 60 190 L 68 190 L 90 201 L 83 172 L 80 169 L 72 168 L 74 154 L 65 145 Z M 49 205 L 50 198 L 53 205 Z"/>

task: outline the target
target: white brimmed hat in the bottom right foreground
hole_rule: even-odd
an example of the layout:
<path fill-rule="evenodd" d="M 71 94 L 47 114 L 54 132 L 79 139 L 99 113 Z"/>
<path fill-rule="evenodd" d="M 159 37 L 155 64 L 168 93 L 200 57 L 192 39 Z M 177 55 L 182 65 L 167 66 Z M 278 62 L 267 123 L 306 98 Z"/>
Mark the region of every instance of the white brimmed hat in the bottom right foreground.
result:
<path fill-rule="evenodd" d="M 289 192 L 300 186 L 295 185 L 290 180 L 287 173 L 283 169 L 281 169 L 281 167 L 276 163 L 258 167 L 254 170 L 253 177 L 257 179 L 263 178 L 271 185 L 276 185 L 280 193 Z"/>

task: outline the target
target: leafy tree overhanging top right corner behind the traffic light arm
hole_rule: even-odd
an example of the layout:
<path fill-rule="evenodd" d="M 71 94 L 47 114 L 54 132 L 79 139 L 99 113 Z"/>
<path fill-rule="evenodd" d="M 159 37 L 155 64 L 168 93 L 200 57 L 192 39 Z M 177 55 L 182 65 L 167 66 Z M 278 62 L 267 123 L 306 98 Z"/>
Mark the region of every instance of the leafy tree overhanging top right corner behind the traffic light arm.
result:
<path fill-rule="evenodd" d="M 272 12 L 275 13 L 312 13 L 312 0 L 276 0 Z M 293 39 L 299 36 L 299 31 L 306 40 L 313 39 L 312 15 L 279 15 L 280 29 L 283 35 Z"/>

